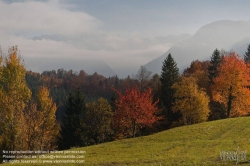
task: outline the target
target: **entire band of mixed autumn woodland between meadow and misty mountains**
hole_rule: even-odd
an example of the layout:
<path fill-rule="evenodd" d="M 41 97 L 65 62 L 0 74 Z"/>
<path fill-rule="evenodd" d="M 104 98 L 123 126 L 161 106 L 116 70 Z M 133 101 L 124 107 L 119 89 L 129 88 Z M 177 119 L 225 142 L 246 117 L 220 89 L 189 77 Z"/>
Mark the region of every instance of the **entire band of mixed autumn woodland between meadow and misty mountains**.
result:
<path fill-rule="evenodd" d="M 141 67 L 121 79 L 26 71 L 10 47 L 0 57 L 1 149 L 69 149 L 250 113 L 250 45 L 244 58 L 215 49 L 182 74 L 173 57 L 161 75 Z"/>

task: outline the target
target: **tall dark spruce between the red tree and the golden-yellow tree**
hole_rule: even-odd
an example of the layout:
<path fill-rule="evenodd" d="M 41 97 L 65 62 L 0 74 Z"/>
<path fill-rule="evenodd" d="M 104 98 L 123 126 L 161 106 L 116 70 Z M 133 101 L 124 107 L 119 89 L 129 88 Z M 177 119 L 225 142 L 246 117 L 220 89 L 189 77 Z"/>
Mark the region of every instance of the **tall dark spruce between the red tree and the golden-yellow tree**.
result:
<path fill-rule="evenodd" d="M 177 63 L 172 58 L 171 54 L 168 54 L 167 58 L 163 62 L 161 71 L 161 95 L 160 101 L 163 105 L 163 115 L 168 120 L 167 126 L 169 127 L 174 121 L 180 118 L 179 113 L 173 113 L 172 107 L 175 102 L 174 89 L 172 85 L 178 81 L 179 69 Z"/>

